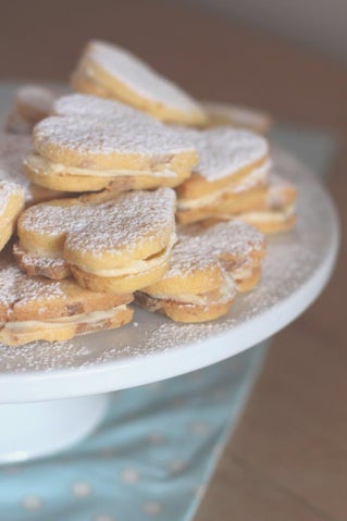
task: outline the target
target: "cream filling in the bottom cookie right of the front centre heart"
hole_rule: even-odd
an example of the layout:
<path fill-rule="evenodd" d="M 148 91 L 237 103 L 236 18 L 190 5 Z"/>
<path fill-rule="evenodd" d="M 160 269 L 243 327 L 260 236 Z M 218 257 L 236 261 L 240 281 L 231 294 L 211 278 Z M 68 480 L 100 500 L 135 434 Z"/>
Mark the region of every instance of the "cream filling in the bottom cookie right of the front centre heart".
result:
<path fill-rule="evenodd" d="M 213 297 L 211 297 L 213 294 Z M 228 302 L 236 294 L 236 284 L 234 278 L 225 273 L 225 284 L 215 291 L 201 293 L 199 295 L 188 294 L 148 294 L 152 298 L 159 300 L 174 300 L 175 302 L 195 303 L 198 306 L 213 306 L 218 303 Z"/>

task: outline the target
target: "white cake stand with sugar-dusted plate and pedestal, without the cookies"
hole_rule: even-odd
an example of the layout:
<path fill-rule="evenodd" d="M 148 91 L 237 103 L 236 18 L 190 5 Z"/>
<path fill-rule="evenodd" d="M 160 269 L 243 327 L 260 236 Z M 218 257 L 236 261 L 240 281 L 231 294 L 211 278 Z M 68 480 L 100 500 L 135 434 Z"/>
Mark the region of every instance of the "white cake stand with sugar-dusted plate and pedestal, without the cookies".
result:
<path fill-rule="evenodd" d="M 260 285 L 223 319 L 176 324 L 136 310 L 120 330 L 66 343 L 0 346 L 0 462 L 55 452 L 102 418 L 107 393 L 194 371 L 272 336 L 318 297 L 333 270 L 338 221 L 317 178 L 275 151 L 276 170 L 296 183 L 298 225 L 269 238 Z"/>

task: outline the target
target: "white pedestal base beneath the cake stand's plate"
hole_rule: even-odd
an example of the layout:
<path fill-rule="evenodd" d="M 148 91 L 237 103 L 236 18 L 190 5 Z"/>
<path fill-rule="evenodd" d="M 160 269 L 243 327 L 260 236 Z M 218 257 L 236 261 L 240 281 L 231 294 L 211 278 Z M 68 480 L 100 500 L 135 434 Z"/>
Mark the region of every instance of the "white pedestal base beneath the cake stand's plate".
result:
<path fill-rule="evenodd" d="M 58 452 L 103 418 L 109 395 L 0 406 L 0 464 Z"/>

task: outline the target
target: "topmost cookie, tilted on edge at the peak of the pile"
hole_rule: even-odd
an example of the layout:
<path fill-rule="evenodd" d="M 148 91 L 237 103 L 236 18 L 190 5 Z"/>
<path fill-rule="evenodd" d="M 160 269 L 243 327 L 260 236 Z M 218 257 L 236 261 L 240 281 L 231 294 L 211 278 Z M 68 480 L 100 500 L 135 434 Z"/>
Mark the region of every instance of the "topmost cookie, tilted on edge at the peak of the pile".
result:
<path fill-rule="evenodd" d="M 75 90 L 123 101 L 158 120 L 183 125 L 207 121 L 201 106 L 129 51 L 90 41 L 72 77 Z"/>

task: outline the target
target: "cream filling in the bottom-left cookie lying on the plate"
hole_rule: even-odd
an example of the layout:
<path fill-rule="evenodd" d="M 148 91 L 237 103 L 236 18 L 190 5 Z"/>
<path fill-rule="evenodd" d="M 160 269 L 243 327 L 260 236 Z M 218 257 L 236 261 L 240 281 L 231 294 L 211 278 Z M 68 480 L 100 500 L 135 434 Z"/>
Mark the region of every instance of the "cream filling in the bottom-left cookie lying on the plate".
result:
<path fill-rule="evenodd" d="M 94 324 L 103 320 L 111 319 L 116 311 L 125 310 L 126 305 L 121 305 L 104 311 L 91 311 L 90 313 L 75 314 L 73 317 L 62 317 L 49 320 L 25 320 L 23 322 L 5 322 L 0 324 L 2 331 L 13 333 L 25 333 L 27 331 L 50 328 L 62 330 L 70 325 Z"/>

